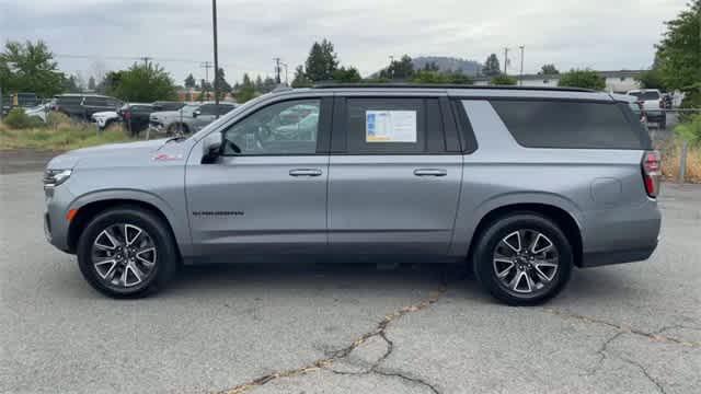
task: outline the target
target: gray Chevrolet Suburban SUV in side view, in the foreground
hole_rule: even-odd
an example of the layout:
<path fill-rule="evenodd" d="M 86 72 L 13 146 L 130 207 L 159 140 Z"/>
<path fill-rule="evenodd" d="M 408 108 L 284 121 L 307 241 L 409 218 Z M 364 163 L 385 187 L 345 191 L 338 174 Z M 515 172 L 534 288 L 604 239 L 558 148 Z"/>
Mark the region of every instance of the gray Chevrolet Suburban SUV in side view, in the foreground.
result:
<path fill-rule="evenodd" d="M 48 163 L 46 234 L 111 297 L 181 263 L 467 264 L 509 304 L 573 267 L 657 246 L 659 155 L 583 90 L 319 86 L 261 96 L 189 138 Z"/>

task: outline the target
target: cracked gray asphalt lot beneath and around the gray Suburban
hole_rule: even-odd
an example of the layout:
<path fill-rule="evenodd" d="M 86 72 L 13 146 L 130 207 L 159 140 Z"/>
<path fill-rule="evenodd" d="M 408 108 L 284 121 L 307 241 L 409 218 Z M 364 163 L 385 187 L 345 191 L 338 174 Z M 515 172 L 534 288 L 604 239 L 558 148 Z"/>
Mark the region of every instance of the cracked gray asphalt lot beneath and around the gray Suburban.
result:
<path fill-rule="evenodd" d="M 699 393 L 701 187 L 660 201 L 651 260 L 538 308 L 439 267 L 189 267 L 115 301 L 44 240 L 41 173 L 7 171 L 0 392 Z"/>

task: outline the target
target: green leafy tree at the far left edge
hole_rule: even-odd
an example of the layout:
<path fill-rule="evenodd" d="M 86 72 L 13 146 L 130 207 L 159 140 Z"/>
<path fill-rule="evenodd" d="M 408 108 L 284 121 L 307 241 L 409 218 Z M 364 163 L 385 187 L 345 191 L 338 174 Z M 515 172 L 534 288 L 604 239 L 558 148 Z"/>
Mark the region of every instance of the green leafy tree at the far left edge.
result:
<path fill-rule="evenodd" d="M 42 40 L 7 42 L 0 53 L 0 85 L 4 92 L 34 92 L 50 97 L 64 91 L 65 76 Z"/>

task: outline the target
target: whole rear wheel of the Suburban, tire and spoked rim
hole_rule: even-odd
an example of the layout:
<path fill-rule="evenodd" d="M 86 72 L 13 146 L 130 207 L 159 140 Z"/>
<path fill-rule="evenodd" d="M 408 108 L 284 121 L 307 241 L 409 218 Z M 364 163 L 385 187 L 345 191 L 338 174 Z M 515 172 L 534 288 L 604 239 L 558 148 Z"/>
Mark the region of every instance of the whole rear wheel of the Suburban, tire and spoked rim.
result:
<path fill-rule="evenodd" d="M 479 282 L 509 305 L 535 305 L 556 296 L 572 265 L 572 246 L 558 224 L 529 212 L 492 222 L 473 254 Z"/>

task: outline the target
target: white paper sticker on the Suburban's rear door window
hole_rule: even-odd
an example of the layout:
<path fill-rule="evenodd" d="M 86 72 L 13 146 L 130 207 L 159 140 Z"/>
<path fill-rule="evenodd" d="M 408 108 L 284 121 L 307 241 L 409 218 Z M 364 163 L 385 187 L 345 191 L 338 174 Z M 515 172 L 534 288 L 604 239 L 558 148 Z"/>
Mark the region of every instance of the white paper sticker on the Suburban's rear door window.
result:
<path fill-rule="evenodd" d="M 366 142 L 416 142 L 416 111 L 366 111 Z"/>

